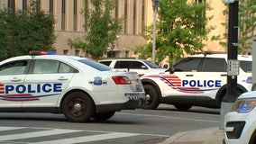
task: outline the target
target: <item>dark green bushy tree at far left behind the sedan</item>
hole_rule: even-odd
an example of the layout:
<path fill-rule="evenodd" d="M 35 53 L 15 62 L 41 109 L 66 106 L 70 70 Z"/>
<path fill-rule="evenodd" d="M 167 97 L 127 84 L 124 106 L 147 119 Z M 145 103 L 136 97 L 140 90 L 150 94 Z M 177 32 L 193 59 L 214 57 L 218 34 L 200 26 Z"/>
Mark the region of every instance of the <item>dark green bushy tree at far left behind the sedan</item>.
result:
<path fill-rule="evenodd" d="M 12 12 L 0 10 L 0 59 L 11 57 Z M 27 10 L 17 10 L 14 18 L 14 55 L 27 55 L 30 50 L 53 49 L 54 17 L 36 9 L 36 2 L 30 1 Z"/>

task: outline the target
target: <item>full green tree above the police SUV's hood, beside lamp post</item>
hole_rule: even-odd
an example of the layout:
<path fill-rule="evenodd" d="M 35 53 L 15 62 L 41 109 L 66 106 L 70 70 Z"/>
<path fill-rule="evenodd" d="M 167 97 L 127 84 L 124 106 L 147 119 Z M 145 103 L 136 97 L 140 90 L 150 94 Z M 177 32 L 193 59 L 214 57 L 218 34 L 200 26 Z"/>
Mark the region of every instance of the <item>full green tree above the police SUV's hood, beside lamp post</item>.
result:
<path fill-rule="evenodd" d="M 187 0 L 160 0 L 156 34 L 156 63 L 168 58 L 180 58 L 194 54 L 205 46 L 207 34 L 214 30 L 207 22 L 213 17 L 206 17 L 206 11 L 211 10 L 207 3 L 196 3 Z M 152 26 L 145 30 L 143 37 L 152 39 Z M 151 42 L 144 47 L 151 49 Z M 142 49 L 141 49 L 142 51 Z"/>

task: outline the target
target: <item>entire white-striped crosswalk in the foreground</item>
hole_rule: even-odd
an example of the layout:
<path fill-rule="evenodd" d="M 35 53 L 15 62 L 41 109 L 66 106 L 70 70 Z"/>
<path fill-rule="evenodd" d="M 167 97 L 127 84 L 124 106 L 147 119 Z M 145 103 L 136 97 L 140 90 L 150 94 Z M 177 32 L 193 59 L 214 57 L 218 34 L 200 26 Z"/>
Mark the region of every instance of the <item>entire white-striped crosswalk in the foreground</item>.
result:
<path fill-rule="evenodd" d="M 22 132 L 22 129 L 35 129 L 38 131 L 33 132 Z M 53 136 L 59 134 L 68 134 L 73 132 L 96 132 L 101 134 L 94 134 L 89 136 L 81 136 L 81 137 L 70 137 L 61 139 L 58 137 L 57 139 L 45 139 L 44 141 L 35 141 L 31 142 L 31 144 L 55 144 L 55 143 L 65 143 L 65 144 L 73 144 L 73 143 L 82 143 L 82 142 L 90 142 L 90 141 L 98 141 L 98 140 L 105 140 L 105 139 L 119 139 L 124 137 L 133 137 L 133 136 L 154 136 L 154 137 L 169 137 L 168 135 L 155 135 L 155 134 L 145 134 L 145 133 L 130 133 L 130 132 L 115 132 L 115 131 L 102 131 L 102 130 L 68 130 L 68 129 L 52 129 L 52 128 L 40 128 L 40 127 L 0 127 L 0 131 L 5 130 L 21 130 L 21 133 L 17 134 L 7 134 L 0 136 L 0 143 L 1 141 L 5 142 L 14 142 L 14 140 L 18 139 L 35 139 L 41 138 L 44 136 Z M 16 141 L 15 143 L 21 143 Z M 30 142 L 25 142 L 30 143 Z"/>

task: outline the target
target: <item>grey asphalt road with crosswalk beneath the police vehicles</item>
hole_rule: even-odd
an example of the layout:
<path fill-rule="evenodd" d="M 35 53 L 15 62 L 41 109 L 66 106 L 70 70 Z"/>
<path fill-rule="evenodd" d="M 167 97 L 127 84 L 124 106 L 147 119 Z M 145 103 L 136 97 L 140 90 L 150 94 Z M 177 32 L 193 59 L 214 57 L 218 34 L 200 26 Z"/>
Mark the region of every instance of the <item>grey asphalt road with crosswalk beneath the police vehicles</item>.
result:
<path fill-rule="evenodd" d="M 218 127 L 219 112 L 202 107 L 179 112 L 160 104 L 157 110 L 125 110 L 87 123 L 69 122 L 62 114 L 0 113 L 0 143 L 153 144 L 180 131 Z"/>

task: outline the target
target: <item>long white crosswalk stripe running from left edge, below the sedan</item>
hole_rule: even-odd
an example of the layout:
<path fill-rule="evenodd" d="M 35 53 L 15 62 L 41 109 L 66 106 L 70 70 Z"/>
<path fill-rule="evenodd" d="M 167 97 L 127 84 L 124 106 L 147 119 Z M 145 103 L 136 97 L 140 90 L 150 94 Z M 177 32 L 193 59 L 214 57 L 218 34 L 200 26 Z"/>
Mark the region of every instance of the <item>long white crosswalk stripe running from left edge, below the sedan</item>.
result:
<path fill-rule="evenodd" d="M 14 140 L 14 139 L 37 138 L 37 137 L 51 136 L 51 135 L 78 132 L 78 131 L 82 131 L 82 130 L 54 129 L 54 130 L 34 131 L 34 132 L 26 132 L 26 133 L 19 133 L 19 134 L 9 134 L 9 135 L 5 135 L 5 136 L 0 136 L 0 141 Z"/>

